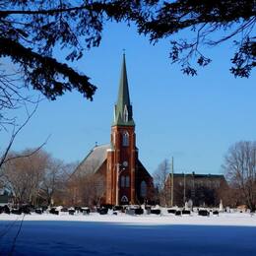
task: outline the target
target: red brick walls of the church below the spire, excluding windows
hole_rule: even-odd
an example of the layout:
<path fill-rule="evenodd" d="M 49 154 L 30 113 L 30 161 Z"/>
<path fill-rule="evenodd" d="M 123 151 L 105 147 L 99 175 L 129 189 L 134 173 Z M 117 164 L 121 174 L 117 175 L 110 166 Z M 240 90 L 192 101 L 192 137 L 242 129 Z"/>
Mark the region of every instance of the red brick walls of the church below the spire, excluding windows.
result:
<path fill-rule="evenodd" d="M 129 134 L 129 146 L 122 145 L 122 135 L 124 132 Z M 113 150 L 107 152 L 106 164 L 106 203 L 115 205 L 116 202 L 116 179 L 117 168 L 119 164 L 119 192 L 118 204 L 121 203 L 122 196 L 128 198 L 128 203 L 141 204 L 145 200 L 150 201 L 153 197 L 154 185 L 153 178 L 138 160 L 138 151 L 136 150 L 136 135 L 134 127 L 113 126 L 111 128 L 111 143 Z M 128 166 L 123 166 L 127 161 Z M 129 177 L 130 186 L 121 187 L 121 176 Z M 141 182 L 147 183 L 147 196 L 141 197 Z"/>

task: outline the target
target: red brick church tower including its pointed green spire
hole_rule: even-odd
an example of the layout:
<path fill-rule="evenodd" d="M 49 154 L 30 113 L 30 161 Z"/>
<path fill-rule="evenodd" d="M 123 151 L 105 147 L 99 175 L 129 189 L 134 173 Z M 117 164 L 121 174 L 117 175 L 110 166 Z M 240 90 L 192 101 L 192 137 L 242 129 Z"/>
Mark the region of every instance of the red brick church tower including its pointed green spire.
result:
<path fill-rule="evenodd" d="M 110 149 L 107 151 L 107 204 L 135 203 L 136 157 L 135 123 L 123 54 L 119 92 L 111 126 Z"/>

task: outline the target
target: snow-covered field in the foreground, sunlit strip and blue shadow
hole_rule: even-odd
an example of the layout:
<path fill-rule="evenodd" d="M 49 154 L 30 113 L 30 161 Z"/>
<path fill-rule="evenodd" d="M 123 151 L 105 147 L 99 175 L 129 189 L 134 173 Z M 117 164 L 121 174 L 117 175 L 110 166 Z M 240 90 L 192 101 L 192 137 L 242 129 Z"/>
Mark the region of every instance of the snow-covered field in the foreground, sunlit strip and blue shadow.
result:
<path fill-rule="evenodd" d="M 0 255 L 254 256 L 256 216 L 2 214 Z"/>

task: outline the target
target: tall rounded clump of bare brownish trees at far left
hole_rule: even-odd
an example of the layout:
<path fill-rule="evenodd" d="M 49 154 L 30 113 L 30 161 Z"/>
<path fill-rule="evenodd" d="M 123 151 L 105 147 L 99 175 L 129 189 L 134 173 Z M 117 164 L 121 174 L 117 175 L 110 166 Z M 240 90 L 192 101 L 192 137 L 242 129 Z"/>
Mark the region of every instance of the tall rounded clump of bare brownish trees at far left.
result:
<path fill-rule="evenodd" d="M 25 157 L 26 156 L 26 157 Z M 70 167 L 43 150 L 10 153 L 1 167 L 0 180 L 15 205 L 50 205 L 58 202 L 65 190 Z M 57 199 L 58 198 L 58 199 Z"/>

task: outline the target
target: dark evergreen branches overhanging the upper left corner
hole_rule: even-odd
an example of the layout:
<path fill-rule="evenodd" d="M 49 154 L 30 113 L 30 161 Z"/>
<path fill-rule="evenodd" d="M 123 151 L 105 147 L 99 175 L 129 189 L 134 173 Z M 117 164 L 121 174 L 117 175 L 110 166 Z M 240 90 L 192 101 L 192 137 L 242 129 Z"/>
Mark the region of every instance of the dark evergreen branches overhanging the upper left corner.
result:
<path fill-rule="evenodd" d="M 96 86 L 89 78 L 52 57 L 55 47 L 71 50 L 67 60 L 82 57 L 85 42 L 79 36 L 87 47 L 99 42 L 101 28 L 91 5 L 72 8 L 69 2 L 1 1 L 0 57 L 10 57 L 21 67 L 27 86 L 50 99 L 73 89 L 92 99 Z"/>

